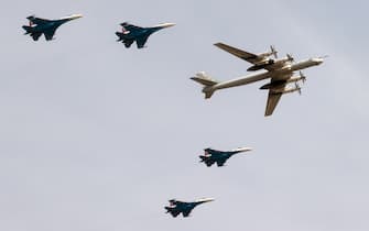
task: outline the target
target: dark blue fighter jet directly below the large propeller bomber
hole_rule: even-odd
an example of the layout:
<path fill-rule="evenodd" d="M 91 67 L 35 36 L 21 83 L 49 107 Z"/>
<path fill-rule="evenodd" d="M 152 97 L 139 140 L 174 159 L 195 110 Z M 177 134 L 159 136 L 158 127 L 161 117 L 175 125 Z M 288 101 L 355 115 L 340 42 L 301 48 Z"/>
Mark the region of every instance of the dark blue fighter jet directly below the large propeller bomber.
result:
<path fill-rule="evenodd" d="M 252 148 L 250 147 L 238 147 L 231 151 L 218 151 L 213 148 L 205 148 L 204 155 L 200 155 L 199 158 L 202 160 L 200 162 L 204 162 L 208 167 L 210 167 L 215 163 L 217 163 L 218 167 L 221 167 L 225 165 L 227 160 L 230 158 L 232 155 L 248 152 L 251 150 Z"/>

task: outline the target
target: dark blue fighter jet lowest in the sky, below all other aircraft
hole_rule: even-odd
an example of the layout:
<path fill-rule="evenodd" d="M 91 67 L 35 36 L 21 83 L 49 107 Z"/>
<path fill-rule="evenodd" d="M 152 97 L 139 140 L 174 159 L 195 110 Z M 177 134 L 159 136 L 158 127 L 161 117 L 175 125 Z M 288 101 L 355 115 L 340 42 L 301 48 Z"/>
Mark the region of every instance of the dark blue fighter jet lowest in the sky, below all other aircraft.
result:
<path fill-rule="evenodd" d="M 193 202 L 184 202 L 176 199 L 170 200 L 170 206 L 165 206 L 166 213 L 171 213 L 173 218 L 177 217 L 181 212 L 184 218 L 188 217 L 191 211 L 198 205 L 204 202 L 214 201 L 213 198 L 204 198 Z"/>

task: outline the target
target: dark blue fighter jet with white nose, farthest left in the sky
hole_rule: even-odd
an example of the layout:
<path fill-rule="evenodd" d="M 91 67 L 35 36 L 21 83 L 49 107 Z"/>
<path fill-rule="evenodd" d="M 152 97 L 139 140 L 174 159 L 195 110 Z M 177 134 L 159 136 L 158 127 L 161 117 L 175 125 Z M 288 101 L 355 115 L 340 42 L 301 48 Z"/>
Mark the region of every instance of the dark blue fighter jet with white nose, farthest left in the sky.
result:
<path fill-rule="evenodd" d="M 72 14 L 58 20 L 40 19 L 31 15 L 26 18 L 30 21 L 30 25 L 23 25 L 22 28 L 25 30 L 24 34 L 30 34 L 34 41 L 37 41 L 42 34 L 45 35 L 46 41 L 51 41 L 58 26 L 79 18 L 82 18 L 82 14 Z"/>

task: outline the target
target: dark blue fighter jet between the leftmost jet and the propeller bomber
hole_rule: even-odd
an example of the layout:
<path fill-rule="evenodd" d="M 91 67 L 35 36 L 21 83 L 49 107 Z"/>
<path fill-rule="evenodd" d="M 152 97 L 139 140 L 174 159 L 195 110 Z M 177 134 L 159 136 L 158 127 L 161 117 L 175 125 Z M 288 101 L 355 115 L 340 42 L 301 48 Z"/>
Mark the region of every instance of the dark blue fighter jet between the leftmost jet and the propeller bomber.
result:
<path fill-rule="evenodd" d="M 152 28 L 140 28 L 128 22 L 123 22 L 120 24 L 122 26 L 121 32 L 116 32 L 119 37 L 117 42 L 124 43 L 124 46 L 129 48 L 132 43 L 135 41 L 138 48 L 143 48 L 146 43 L 149 36 L 162 29 L 170 28 L 175 25 L 174 23 L 162 23 Z"/>

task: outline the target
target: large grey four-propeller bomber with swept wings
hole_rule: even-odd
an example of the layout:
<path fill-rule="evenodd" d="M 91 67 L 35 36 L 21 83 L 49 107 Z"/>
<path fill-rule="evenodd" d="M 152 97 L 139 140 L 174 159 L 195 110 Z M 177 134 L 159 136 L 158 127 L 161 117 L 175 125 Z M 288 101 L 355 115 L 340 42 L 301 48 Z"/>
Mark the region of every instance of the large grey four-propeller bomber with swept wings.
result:
<path fill-rule="evenodd" d="M 205 73 L 198 73 L 191 79 L 204 86 L 203 92 L 205 94 L 206 99 L 210 98 L 213 94 L 219 89 L 238 87 L 263 79 L 270 79 L 270 82 L 260 87 L 260 89 L 269 90 L 265 117 L 273 113 L 282 95 L 295 91 L 301 94 L 301 87 L 297 82 L 305 81 L 305 76 L 301 72 L 299 75 L 295 75 L 295 72 L 319 65 L 324 61 L 323 57 L 315 57 L 301 62 L 294 62 L 294 58 L 290 54 L 287 54 L 284 58 L 278 58 L 276 51 L 273 46 L 271 46 L 270 52 L 252 54 L 224 43 L 216 43 L 214 45 L 251 63 L 252 66 L 248 68 L 248 72 L 260 69 L 264 70 L 223 82 L 211 79 Z M 274 58 L 271 58 L 271 56 L 274 56 Z M 290 84 L 294 85 L 290 86 Z"/>

